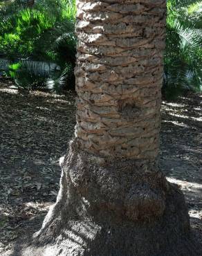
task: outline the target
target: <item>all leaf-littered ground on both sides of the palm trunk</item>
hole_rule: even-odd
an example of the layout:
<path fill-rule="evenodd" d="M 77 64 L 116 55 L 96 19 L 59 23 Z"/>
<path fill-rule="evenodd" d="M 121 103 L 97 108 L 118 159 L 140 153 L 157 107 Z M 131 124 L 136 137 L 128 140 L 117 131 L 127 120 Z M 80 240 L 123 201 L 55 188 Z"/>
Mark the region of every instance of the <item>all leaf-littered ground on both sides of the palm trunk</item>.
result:
<path fill-rule="evenodd" d="M 9 86 L 0 82 L 0 254 L 15 256 L 17 238 L 39 229 L 55 201 L 58 160 L 75 126 L 75 94 L 27 94 Z M 162 116 L 160 163 L 185 192 L 202 241 L 202 95 L 163 102 Z"/>

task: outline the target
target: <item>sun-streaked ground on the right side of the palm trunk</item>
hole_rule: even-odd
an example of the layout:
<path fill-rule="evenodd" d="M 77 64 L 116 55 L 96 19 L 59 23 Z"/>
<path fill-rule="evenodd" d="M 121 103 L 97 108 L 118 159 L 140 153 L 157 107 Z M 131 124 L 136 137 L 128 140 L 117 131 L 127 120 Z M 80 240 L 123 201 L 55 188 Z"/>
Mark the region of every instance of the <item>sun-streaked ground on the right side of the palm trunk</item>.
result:
<path fill-rule="evenodd" d="M 162 104 L 160 167 L 185 194 L 194 237 L 202 244 L 202 95 Z"/>

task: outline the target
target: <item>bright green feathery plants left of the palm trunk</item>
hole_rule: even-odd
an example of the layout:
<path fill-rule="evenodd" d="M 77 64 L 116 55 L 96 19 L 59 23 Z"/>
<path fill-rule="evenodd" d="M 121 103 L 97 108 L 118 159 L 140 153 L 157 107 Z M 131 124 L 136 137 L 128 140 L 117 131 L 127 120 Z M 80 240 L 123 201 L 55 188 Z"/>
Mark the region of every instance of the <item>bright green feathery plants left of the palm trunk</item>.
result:
<path fill-rule="evenodd" d="M 52 79 L 58 89 L 58 81 L 64 86 L 62 76 L 72 86 L 75 0 L 13 0 L 0 7 L 0 19 L 0 55 L 10 60 L 10 67 L 20 64 L 14 73 L 12 68 L 7 73 L 12 72 L 18 85 L 33 88 Z"/>

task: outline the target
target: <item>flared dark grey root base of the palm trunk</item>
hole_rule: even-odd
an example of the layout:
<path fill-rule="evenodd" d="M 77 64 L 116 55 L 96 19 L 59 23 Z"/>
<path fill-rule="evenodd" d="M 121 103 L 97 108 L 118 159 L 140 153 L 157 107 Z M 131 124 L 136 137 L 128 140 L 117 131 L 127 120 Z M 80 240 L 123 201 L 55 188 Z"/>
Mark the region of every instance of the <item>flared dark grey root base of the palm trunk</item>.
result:
<path fill-rule="evenodd" d="M 190 237 L 183 194 L 154 161 L 104 163 L 71 143 L 57 202 L 22 255 L 201 254 Z"/>

